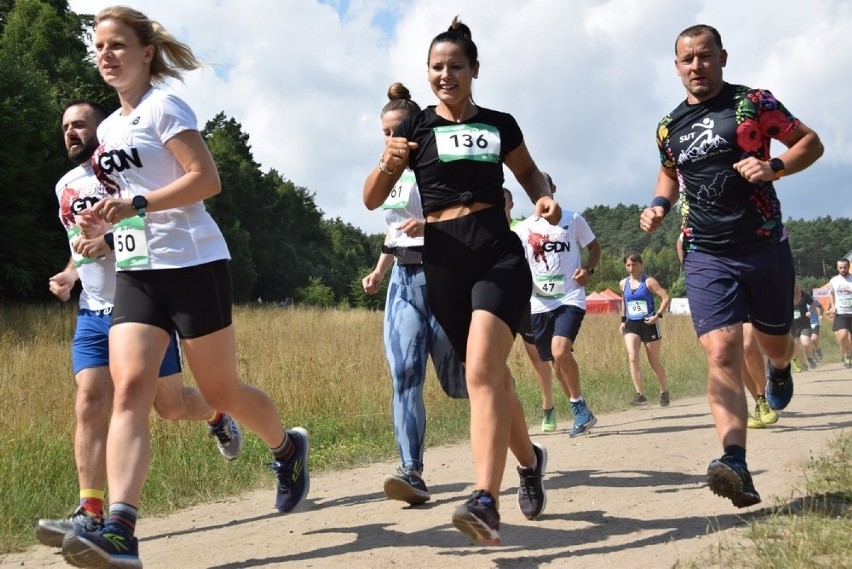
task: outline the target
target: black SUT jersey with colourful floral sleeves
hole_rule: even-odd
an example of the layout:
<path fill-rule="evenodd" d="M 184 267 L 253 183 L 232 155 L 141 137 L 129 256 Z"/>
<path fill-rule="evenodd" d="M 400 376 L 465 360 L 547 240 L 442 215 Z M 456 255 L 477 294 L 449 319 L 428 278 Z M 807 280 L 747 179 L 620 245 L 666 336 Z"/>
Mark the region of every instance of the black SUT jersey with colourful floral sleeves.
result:
<path fill-rule="evenodd" d="M 660 121 L 660 160 L 677 169 L 684 251 L 749 252 L 783 239 L 772 183 L 752 184 L 733 165 L 749 156 L 768 160 L 771 140 L 798 124 L 769 91 L 728 83 L 712 99 L 684 101 Z"/>

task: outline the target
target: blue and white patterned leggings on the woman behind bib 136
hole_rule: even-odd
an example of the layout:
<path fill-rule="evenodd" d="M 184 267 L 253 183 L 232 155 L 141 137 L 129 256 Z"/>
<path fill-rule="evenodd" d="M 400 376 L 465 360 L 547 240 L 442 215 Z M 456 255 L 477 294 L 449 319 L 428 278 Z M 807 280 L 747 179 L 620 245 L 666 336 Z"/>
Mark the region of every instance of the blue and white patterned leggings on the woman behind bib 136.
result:
<path fill-rule="evenodd" d="M 426 358 L 450 397 L 467 397 L 461 360 L 426 302 L 422 266 L 394 265 L 385 304 L 385 356 L 391 372 L 393 428 L 405 469 L 423 471 Z"/>

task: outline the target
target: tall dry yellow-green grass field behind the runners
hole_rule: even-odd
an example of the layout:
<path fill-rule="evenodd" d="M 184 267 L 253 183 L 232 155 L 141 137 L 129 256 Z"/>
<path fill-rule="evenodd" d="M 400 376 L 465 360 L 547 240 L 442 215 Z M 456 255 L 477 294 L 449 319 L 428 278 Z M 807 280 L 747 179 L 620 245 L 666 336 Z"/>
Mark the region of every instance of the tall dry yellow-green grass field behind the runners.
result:
<path fill-rule="evenodd" d="M 285 425 L 302 425 L 311 432 L 312 470 L 396 455 L 381 313 L 245 307 L 237 308 L 234 317 L 243 380 L 273 398 Z M 75 309 L 68 305 L 0 306 L 0 553 L 33 543 L 37 518 L 65 516 L 77 501 L 69 357 L 74 322 Z M 663 326 L 662 357 L 672 397 L 703 394 L 706 367 L 691 322 L 670 315 Z M 824 338 L 823 351 L 835 357 L 830 336 Z M 595 413 L 628 406 L 633 388 L 617 316 L 587 317 L 575 357 Z M 509 365 L 527 417 L 537 425 L 540 394 L 520 340 Z M 646 394 L 654 400 L 656 382 L 647 363 L 644 373 Z M 431 368 L 429 375 L 427 441 L 464 440 L 467 402 L 447 398 Z M 186 380 L 192 382 L 188 372 Z M 569 421 L 562 393 L 556 406 L 559 420 Z M 168 422 L 152 415 L 151 431 L 154 462 L 143 494 L 145 514 L 274 484 L 265 468 L 268 450 L 253 434 L 246 436 L 242 457 L 226 462 L 202 423 Z"/>

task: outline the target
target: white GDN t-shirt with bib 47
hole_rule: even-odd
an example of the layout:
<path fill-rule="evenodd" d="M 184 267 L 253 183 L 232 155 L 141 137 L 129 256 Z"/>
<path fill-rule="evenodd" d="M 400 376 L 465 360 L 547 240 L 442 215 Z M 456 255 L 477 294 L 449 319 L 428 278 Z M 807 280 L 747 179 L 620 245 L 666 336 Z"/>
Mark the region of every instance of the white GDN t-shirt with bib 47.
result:
<path fill-rule="evenodd" d="M 530 312 L 550 312 L 563 305 L 586 308 L 586 289 L 571 278 L 580 268 L 580 252 L 595 234 L 579 213 L 563 211 L 558 225 L 532 216 L 516 224 L 533 276 Z"/>

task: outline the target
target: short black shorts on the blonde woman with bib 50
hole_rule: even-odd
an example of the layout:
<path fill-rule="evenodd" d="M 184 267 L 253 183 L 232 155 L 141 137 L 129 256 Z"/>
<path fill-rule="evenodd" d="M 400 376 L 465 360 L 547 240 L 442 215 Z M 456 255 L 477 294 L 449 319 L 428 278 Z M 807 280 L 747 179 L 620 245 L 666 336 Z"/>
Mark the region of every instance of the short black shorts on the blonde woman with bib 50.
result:
<path fill-rule="evenodd" d="M 112 325 L 138 322 L 181 338 L 198 338 L 231 325 L 231 270 L 227 260 L 180 269 L 118 271 Z"/>

